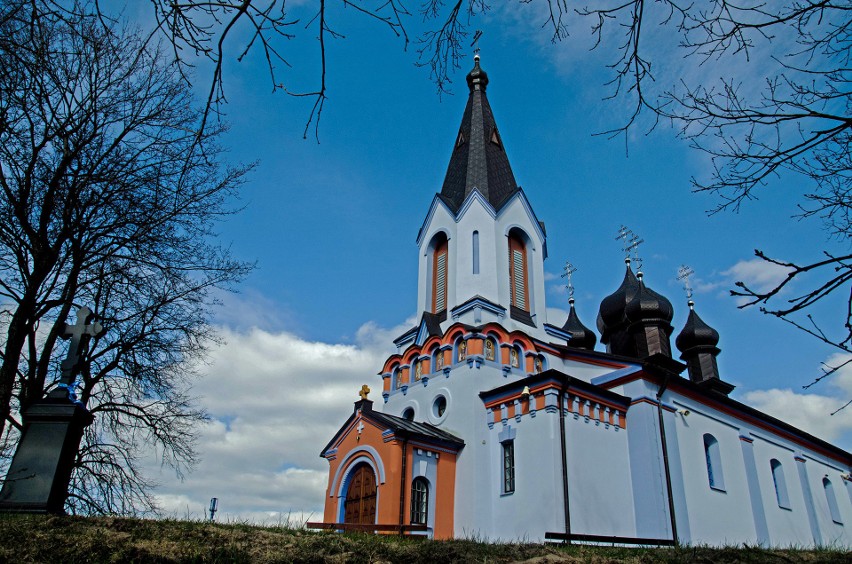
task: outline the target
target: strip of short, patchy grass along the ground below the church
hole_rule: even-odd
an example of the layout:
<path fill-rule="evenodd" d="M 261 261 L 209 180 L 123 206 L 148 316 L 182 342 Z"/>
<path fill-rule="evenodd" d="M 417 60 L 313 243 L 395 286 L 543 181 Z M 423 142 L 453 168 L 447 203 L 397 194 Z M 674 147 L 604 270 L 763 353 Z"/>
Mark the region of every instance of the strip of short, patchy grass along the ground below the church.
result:
<path fill-rule="evenodd" d="M 828 562 L 840 550 L 757 547 L 621 548 L 477 540 L 414 541 L 198 521 L 0 515 L 0 562 Z"/>

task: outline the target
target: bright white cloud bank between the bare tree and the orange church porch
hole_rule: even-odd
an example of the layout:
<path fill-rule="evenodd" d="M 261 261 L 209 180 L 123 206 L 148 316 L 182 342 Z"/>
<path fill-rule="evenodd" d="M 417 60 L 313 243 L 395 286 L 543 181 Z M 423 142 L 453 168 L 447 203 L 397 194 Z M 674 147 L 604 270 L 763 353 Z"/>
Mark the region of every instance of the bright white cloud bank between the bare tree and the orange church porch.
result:
<path fill-rule="evenodd" d="M 166 514 L 202 518 L 218 497 L 221 520 L 321 519 L 328 463 L 320 450 L 348 417 L 362 384 L 381 401 L 376 374 L 393 352 L 389 335 L 403 330 L 368 323 L 357 345 L 342 345 L 220 329 L 224 344 L 210 351 L 195 390 L 211 415 L 199 437 L 203 459 L 183 482 L 168 469 L 159 475 L 156 495 Z"/>

